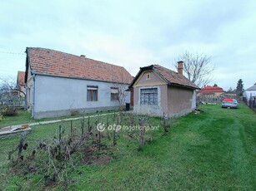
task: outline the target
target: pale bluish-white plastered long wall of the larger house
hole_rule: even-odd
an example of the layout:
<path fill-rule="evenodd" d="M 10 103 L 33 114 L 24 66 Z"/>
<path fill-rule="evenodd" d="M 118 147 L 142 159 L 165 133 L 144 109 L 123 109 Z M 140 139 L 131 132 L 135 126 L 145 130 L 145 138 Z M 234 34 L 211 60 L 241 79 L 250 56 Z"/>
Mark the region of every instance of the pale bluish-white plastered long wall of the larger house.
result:
<path fill-rule="evenodd" d="M 119 108 L 118 100 L 111 100 L 113 83 L 37 75 L 35 86 L 35 119 Z M 98 86 L 98 101 L 87 101 L 87 86 Z"/>

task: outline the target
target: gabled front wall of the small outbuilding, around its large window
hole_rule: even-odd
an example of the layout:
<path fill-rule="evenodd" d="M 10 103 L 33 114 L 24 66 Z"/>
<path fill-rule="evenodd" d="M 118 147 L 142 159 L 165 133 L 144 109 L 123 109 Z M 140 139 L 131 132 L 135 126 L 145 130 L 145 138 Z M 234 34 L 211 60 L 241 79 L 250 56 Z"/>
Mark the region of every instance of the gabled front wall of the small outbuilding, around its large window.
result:
<path fill-rule="evenodd" d="M 150 79 L 147 80 L 147 74 Z M 140 105 L 140 90 L 145 88 L 158 88 L 158 105 Z M 133 111 L 148 115 L 163 115 L 168 112 L 167 107 L 167 83 L 155 72 L 144 71 L 133 86 Z"/>

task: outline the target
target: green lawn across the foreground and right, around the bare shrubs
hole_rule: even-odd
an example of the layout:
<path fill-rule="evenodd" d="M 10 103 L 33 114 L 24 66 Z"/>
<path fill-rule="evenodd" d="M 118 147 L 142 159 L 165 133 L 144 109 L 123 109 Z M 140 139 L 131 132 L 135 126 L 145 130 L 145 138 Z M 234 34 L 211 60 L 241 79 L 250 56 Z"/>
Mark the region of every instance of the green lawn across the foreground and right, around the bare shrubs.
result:
<path fill-rule="evenodd" d="M 174 120 L 168 135 L 160 136 L 138 151 L 122 136 L 116 156 L 107 165 L 80 165 L 69 174 L 68 190 L 255 190 L 256 115 L 245 105 L 238 110 L 202 105 L 199 115 Z M 153 125 L 159 118 L 152 118 Z M 28 135 L 31 142 L 58 130 L 58 125 L 38 125 Z M 3 190 L 46 189 L 42 175 L 9 173 L 7 152 L 18 137 L 0 140 L 0 187 Z M 77 173 L 77 172 L 80 173 Z M 48 189 L 63 190 L 61 186 Z"/>

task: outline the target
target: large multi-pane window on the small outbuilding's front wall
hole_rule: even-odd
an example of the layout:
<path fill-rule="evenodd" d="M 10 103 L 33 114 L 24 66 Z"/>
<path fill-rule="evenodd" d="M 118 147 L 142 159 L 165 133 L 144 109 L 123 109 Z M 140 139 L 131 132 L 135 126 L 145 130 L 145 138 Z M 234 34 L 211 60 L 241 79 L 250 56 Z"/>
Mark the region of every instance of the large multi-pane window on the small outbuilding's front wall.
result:
<path fill-rule="evenodd" d="M 158 88 L 140 90 L 141 105 L 158 105 Z"/>

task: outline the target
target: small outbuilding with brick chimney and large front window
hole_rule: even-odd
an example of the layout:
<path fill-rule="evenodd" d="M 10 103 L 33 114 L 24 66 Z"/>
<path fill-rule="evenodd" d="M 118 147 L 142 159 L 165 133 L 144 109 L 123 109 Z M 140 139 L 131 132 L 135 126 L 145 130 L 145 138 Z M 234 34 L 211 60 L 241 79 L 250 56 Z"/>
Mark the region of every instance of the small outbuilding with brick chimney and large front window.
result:
<path fill-rule="evenodd" d="M 183 76 L 183 61 L 179 61 L 178 73 L 159 65 L 141 67 L 129 89 L 134 112 L 177 116 L 196 109 L 199 88 Z"/>

